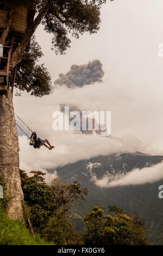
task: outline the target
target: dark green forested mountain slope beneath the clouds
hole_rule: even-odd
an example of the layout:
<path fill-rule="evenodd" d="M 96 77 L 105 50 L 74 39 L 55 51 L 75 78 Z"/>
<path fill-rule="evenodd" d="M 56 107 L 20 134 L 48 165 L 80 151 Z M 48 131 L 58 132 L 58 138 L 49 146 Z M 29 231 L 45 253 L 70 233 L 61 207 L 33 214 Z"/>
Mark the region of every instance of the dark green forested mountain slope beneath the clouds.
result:
<path fill-rule="evenodd" d="M 163 202 L 158 198 L 158 187 L 163 180 L 146 183 L 143 185 L 116 186 L 102 188 L 92 180 L 92 174 L 88 171 L 88 164 L 95 164 L 92 170 L 97 179 L 108 172 L 115 176 L 120 173 L 128 173 L 135 168 L 150 167 L 162 161 L 162 156 L 151 156 L 142 153 L 135 154 L 112 154 L 109 156 L 98 156 L 89 160 L 78 161 L 73 164 L 57 169 L 62 180 L 72 182 L 77 180 L 82 186 L 89 188 L 86 202 L 78 205 L 76 214 L 84 217 L 87 211 L 93 206 L 117 205 L 127 214 L 134 214 L 136 211 L 146 222 L 149 230 L 149 239 L 152 244 L 163 244 Z M 53 170 L 49 170 L 53 172 Z M 141 176 L 140 176 L 141 180 Z M 82 218 L 77 216 L 77 230 L 82 229 Z"/>

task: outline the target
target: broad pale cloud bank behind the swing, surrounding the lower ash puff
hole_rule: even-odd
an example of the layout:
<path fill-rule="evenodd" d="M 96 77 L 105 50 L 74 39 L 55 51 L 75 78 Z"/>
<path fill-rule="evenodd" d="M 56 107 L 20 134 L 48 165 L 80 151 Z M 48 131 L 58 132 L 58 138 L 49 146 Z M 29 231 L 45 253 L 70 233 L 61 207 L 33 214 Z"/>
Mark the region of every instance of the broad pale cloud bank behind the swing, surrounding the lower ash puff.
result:
<path fill-rule="evenodd" d="M 78 160 L 90 159 L 93 156 L 118 152 L 158 153 L 158 149 L 157 151 L 151 150 L 153 138 L 150 132 L 148 133 L 148 126 L 151 125 L 148 112 L 146 113 L 146 109 L 143 110 L 142 106 L 139 114 L 141 118 L 145 117 L 143 123 L 145 126 L 139 127 L 137 117 L 134 118 L 137 115 L 136 102 L 134 95 L 129 92 L 129 88 L 117 90 L 103 83 L 77 89 L 55 88 L 51 95 L 42 99 L 35 99 L 23 93 L 22 97 L 15 101 L 15 112 L 26 121 L 32 130 L 38 133 L 39 137 L 47 138 L 52 145 L 55 145 L 55 148 L 51 151 L 45 147 L 34 149 L 28 145 L 27 138 L 20 136 L 21 168 L 27 170 L 55 168 Z M 54 131 L 52 113 L 59 110 L 60 103 L 67 106 L 70 103 L 77 105 L 83 111 L 111 110 L 112 137 L 101 137 L 95 133 L 84 135 L 76 131 Z M 145 142 L 143 142 L 144 137 L 146 137 Z M 150 141 L 147 138 L 150 138 Z M 155 143 L 153 143 L 153 148 L 156 147 Z"/>

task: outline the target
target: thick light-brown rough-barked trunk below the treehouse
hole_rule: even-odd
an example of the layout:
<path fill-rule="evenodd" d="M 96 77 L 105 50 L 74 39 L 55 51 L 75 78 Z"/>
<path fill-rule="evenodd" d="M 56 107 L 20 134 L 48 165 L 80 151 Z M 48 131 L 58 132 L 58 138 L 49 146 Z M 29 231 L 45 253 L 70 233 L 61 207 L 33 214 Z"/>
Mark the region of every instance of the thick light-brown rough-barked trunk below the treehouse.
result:
<path fill-rule="evenodd" d="M 18 151 L 18 136 L 11 91 L 9 89 L 8 93 L 4 94 L 0 90 L 0 175 L 7 188 L 7 196 L 12 197 L 7 206 L 8 216 L 23 220 L 23 192 Z"/>

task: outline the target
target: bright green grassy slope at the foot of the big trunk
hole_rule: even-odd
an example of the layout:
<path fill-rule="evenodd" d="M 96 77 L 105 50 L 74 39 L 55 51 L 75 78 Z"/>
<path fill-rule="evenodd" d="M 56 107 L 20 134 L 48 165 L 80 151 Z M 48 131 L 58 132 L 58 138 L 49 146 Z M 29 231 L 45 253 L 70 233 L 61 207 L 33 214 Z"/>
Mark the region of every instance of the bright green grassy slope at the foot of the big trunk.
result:
<path fill-rule="evenodd" d="M 11 220 L 0 201 L 0 245 L 54 245 L 40 238 L 40 235 L 32 237 L 29 230 L 22 222 Z"/>

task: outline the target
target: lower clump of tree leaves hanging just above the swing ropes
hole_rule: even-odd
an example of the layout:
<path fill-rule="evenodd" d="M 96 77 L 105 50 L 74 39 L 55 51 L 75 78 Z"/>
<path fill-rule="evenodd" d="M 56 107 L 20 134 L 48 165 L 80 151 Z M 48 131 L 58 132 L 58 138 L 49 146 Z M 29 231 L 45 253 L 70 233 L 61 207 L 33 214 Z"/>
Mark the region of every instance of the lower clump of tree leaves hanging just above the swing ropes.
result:
<path fill-rule="evenodd" d="M 26 90 L 37 97 L 48 95 L 52 89 L 49 72 L 44 64 L 37 64 L 42 56 L 41 47 L 33 36 L 30 42 L 30 51 L 23 52 L 21 68 L 17 70 L 15 80 L 16 88 Z"/>

